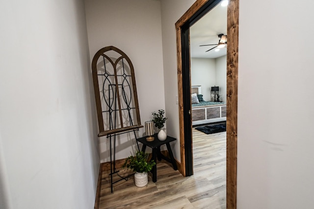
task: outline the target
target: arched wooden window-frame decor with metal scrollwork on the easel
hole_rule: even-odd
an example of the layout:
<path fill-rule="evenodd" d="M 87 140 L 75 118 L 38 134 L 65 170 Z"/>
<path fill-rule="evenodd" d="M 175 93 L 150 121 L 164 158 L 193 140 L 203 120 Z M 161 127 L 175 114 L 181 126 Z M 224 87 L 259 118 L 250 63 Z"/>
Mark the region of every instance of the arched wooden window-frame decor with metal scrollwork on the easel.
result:
<path fill-rule="evenodd" d="M 142 128 L 134 68 L 127 54 L 113 46 L 99 50 L 92 61 L 92 72 L 98 136 Z"/>

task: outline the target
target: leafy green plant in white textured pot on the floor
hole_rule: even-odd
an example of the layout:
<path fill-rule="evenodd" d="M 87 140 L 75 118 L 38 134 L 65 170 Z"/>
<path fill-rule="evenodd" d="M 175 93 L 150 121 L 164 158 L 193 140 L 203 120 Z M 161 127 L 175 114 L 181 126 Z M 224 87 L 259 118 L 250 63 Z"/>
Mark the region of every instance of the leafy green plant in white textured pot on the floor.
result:
<path fill-rule="evenodd" d="M 148 153 L 137 151 L 135 155 L 131 155 L 126 159 L 123 164 L 123 167 L 132 169 L 134 174 L 134 183 L 135 186 L 143 187 L 148 183 L 147 172 L 153 169 L 153 166 L 156 165 L 154 160 L 148 161 Z"/>

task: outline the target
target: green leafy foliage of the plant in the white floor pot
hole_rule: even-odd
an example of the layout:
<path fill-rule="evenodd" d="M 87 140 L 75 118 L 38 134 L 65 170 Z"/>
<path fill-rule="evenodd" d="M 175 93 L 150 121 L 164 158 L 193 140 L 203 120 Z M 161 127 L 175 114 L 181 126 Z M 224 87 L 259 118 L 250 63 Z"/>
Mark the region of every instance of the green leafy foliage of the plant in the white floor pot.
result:
<path fill-rule="evenodd" d="M 126 159 L 123 167 L 130 168 L 138 173 L 149 172 L 153 169 L 153 166 L 156 165 L 156 162 L 154 162 L 154 160 L 148 161 L 148 155 L 148 153 L 138 151 L 134 156 L 131 155 Z"/>

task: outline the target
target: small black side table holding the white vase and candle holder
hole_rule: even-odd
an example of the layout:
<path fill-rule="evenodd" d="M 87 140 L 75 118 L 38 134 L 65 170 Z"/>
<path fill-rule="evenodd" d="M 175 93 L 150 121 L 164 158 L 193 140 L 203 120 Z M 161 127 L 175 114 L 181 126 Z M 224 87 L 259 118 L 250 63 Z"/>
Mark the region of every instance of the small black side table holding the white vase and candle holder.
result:
<path fill-rule="evenodd" d="M 151 172 L 153 174 L 153 182 L 157 182 L 157 158 L 158 158 L 159 161 L 161 159 L 164 159 L 164 160 L 170 162 L 172 164 L 172 166 L 173 166 L 173 169 L 174 170 L 178 170 L 176 160 L 173 157 L 173 153 L 172 153 L 172 150 L 171 150 L 171 147 L 170 147 L 170 142 L 175 141 L 177 139 L 173 138 L 171 136 L 167 136 L 166 140 L 159 141 L 158 137 L 157 137 L 157 133 L 154 134 L 154 137 L 155 137 L 154 141 L 146 141 L 146 137 L 147 136 L 144 136 L 144 137 L 138 138 L 136 140 L 143 144 L 142 152 L 145 153 L 146 146 L 152 148 L 153 153 L 152 153 L 152 159 L 151 160 L 154 160 L 156 162 L 156 165 L 153 166 L 153 169 L 152 169 Z M 168 157 L 165 157 L 164 155 L 162 155 L 161 152 L 160 152 L 160 146 L 163 145 L 163 144 L 165 144 L 167 146 L 167 150 L 168 150 L 170 159 Z"/>

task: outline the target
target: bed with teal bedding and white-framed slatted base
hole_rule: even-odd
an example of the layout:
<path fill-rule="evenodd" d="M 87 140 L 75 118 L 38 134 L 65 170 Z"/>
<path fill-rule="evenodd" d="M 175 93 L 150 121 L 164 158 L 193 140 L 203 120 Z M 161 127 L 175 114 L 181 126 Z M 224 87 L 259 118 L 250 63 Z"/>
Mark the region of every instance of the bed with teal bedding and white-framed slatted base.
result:
<path fill-rule="evenodd" d="M 206 123 L 214 123 L 225 121 L 227 116 L 227 104 L 223 102 L 207 102 L 203 101 L 201 95 L 201 86 L 192 86 L 192 125 L 200 125 Z M 195 94 L 198 103 L 193 102 Z"/>

